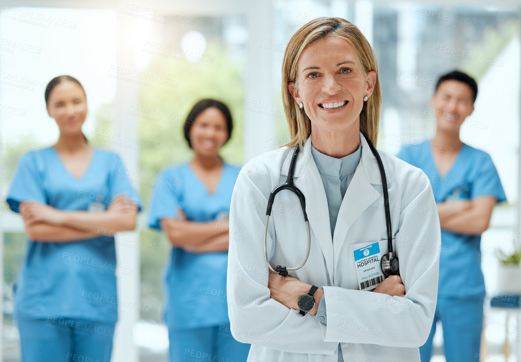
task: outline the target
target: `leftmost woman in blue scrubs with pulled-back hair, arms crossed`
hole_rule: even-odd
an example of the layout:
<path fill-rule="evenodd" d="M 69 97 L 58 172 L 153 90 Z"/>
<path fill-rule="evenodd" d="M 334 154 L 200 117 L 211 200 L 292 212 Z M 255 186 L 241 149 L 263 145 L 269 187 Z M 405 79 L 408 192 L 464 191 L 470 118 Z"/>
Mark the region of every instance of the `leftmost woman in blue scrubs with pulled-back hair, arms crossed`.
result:
<path fill-rule="evenodd" d="M 134 229 L 141 201 L 119 156 L 82 134 L 87 107 L 78 80 L 56 77 L 45 102 L 58 141 L 22 155 L 7 193 L 28 235 L 14 287 L 21 358 L 109 362 L 116 273 L 131 273 L 116 262 L 114 234 Z"/>

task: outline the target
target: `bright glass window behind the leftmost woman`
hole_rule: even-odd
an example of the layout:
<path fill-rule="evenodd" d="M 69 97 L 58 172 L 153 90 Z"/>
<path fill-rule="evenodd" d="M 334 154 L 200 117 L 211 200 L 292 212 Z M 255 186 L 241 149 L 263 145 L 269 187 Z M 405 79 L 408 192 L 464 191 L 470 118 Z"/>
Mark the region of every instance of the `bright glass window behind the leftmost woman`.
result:
<path fill-rule="evenodd" d="M 5 196 L 19 157 L 54 144 L 58 127 L 45 109 L 44 92 L 55 76 L 69 74 L 83 85 L 89 112 L 83 132 L 94 146 L 111 105 L 116 82 L 107 70 L 116 59 L 116 16 L 110 10 L 14 7 L 0 14 L 0 224 L 4 231 L 3 348 L 18 360 L 19 335 L 13 321 L 13 283 L 26 250 L 19 215 Z"/>

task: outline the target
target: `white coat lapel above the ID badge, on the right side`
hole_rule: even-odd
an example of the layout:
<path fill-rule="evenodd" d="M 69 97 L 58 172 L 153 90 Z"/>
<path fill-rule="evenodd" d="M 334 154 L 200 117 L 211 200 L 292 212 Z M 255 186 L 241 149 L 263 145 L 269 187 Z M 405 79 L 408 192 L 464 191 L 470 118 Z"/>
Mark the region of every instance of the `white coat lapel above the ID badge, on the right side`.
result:
<path fill-rule="evenodd" d="M 371 152 L 369 145 L 365 137 L 360 134 L 360 142 L 362 144 L 362 156 L 358 166 L 356 166 L 355 173 L 349 184 L 348 189 L 345 191 L 340 210 L 338 212 L 337 225 L 334 229 L 333 236 L 333 250 L 334 250 L 334 261 L 333 265 L 337 266 L 340 250 L 345 242 L 349 228 L 356 219 L 380 197 L 378 192 L 371 184 L 380 184 L 381 179 L 375 177 L 374 167 L 377 169 L 378 176 L 380 175 L 376 158 Z M 369 178 L 368 175 L 371 177 Z M 387 173 L 386 173 L 387 175 Z M 387 178 L 389 179 L 389 178 Z M 368 227 L 370 224 L 378 222 L 368 220 Z M 384 221 L 381 221 L 384 223 Z M 362 236 L 363 237 L 363 236 Z M 348 240 L 348 243 L 359 243 L 363 240 Z"/>

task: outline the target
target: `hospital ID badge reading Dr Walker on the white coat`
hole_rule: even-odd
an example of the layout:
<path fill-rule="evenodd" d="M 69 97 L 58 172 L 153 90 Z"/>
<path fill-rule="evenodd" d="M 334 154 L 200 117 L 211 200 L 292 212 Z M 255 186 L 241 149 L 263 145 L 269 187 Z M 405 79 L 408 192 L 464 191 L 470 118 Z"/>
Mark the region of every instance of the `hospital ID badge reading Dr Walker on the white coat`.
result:
<path fill-rule="evenodd" d="M 353 251 L 360 290 L 375 289 L 383 281 L 378 241 Z"/>

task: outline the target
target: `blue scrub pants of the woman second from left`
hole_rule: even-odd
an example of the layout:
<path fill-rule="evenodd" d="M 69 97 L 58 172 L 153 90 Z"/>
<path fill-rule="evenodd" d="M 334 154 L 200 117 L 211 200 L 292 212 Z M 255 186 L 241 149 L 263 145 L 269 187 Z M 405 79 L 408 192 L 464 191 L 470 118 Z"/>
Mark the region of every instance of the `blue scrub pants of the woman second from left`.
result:
<path fill-rule="evenodd" d="M 250 344 L 238 342 L 230 325 L 168 329 L 170 362 L 246 362 Z"/>

